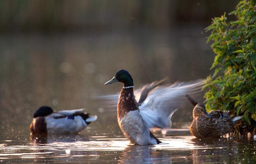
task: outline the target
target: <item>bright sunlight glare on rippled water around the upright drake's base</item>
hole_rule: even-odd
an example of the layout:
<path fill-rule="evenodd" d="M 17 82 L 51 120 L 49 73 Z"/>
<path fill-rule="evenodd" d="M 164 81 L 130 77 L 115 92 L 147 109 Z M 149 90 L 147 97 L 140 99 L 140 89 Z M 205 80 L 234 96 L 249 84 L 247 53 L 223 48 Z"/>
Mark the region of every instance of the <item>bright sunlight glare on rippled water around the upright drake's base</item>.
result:
<path fill-rule="evenodd" d="M 95 138 L 91 141 L 54 141 L 48 140 L 49 143 L 28 143 L 25 145 L 8 145 L 0 147 L 0 156 L 19 156 L 20 158 L 35 158 L 44 157 L 44 155 L 52 154 L 55 157 L 75 155 L 75 156 L 87 156 L 87 152 L 93 151 L 124 151 L 131 149 L 129 141 L 125 138 Z M 179 138 L 160 138 L 163 144 L 151 145 L 151 146 L 139 146 L 140 148 L 151 150 L 190 150 L 201 149 L 200 146 L 195 146 L 191 141 L 193 137 L 179 137 Z M 205 148 L 204 148 L 205 149 Z M 22 151 L 23 153 L 19 153 Z M 85 153 L 81 155 L 79 153 Z M 78 154 L 77 154 L 78 153 Z"/>

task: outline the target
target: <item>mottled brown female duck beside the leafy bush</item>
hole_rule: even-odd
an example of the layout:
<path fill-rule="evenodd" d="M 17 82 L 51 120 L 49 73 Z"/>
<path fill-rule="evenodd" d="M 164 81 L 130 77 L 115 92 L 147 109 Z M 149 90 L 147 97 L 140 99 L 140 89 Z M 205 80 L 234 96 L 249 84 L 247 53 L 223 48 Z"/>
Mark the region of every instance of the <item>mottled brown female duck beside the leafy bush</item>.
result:
<path fill-rule="evenodd" d="M 218 138 L 232 131 L 235 122 L 243 116 L 235 116 L 233 112 L 215 110 L 207 113 L 204 104 L 198 104 L 189 95 L 186 98 L 195 107 L 190 132 L 196 138 Z"/>

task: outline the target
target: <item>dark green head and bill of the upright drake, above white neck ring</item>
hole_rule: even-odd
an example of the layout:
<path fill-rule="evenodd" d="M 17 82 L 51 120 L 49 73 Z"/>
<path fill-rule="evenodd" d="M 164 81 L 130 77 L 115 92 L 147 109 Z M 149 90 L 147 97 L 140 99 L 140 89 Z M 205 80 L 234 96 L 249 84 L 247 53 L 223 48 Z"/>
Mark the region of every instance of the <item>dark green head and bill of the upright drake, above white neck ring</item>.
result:
<path fill-rule="evenodd" d="M 110 81 L 106 82 L 105 85 L 111 84 L 117 81 L 124 83 L 125 87 L 134 86 L 131 75 L 129 74 L 128 71 L 124 69 L 121 69 L 118 72 L 116 72 L 114 77 Z"/>

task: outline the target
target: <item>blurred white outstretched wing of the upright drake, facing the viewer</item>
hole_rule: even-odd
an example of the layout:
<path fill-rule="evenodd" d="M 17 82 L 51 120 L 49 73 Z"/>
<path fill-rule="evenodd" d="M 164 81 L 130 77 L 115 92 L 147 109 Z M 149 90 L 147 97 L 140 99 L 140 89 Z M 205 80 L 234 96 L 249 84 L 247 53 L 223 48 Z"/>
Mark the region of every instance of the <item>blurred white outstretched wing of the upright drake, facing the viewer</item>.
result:
<path fill-rule="evenodd" d="M 149 128 L 167 128 L 171 125 L 172 114 L 186 103 L 186 94 L 201 92 L 203 81 L 174 83 L 152 89 L 139 106 L 143 121 Z"/>

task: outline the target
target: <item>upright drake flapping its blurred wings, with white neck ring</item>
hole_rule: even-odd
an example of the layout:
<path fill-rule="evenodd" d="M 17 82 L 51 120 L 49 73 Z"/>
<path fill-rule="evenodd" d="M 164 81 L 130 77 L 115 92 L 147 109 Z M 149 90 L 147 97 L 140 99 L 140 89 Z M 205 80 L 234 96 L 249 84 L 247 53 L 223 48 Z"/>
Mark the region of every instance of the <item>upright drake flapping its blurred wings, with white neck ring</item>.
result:
<path fill-rule="evenodd" d="M 143 87 L 137 102 L 134 96 L 134 83 L 126 70 L 119 70 L 105 83 L 122 82 L 123 87 L 117 103 L 119 127 L 131 144 L 160 144 L 149 128 L 167 128 L 171 124 L 172 114 L 184 101 L 186 93 L 194 93 L 201 88 L 201 82 L 186 84 L 175 83 L 171 86 L 157 87 L 161 82 Z"/>

